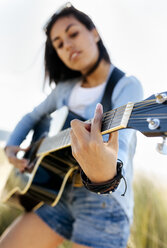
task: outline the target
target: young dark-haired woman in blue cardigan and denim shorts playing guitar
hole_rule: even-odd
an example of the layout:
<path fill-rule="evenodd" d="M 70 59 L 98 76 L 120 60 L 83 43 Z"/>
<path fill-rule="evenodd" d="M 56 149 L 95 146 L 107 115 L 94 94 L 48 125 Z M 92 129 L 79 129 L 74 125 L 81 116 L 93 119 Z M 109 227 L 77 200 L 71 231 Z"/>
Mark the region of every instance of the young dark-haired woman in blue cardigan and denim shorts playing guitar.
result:
<path fill-rule="evenodd" d="M 103 142 L 100 134 L 103 110 L 98 104 L 115 66 L 92 20 L 69 4 L 49 20 L 46 36 L 45 72 L 56 87 L 17 124 L 5 148 L 9 161 L 24 172 L 27 160 L 16 157 L 20 144 L 36 123 L 54 110 L 66 105 L 85 119 L 91 119 L 95 111 L 91 125 L 79 120 L 71 122 L 73 156 L 89 182 L 104 185 L 117 174 L 118 152 L 118 158 L 123 161 L 127 192 L 121 196 L 122 181 L 113 194 L 107 195 L 93 193 L 85 187 L 71 189 L 67 185 L 55 207 L 44 204 L 19 217 L 3 235 L 0 247 L 55 248 L 64 239 L 71 240 L 73 248 L 126 247 L 133 212 L 135 131 L 119 131 L 119 151 L 117 132 Z M 139 81 L 124 75 L 110 100 L 116 108 L 141 98 Z"/>

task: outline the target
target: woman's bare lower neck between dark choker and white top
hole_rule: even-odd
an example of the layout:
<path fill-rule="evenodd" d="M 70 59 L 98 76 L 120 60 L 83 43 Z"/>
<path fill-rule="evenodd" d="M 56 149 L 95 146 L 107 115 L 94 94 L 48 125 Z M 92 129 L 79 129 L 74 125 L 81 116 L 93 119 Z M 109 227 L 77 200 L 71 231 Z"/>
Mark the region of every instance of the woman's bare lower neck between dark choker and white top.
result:
<path fill-rule="evenodd" d="M 111 64 L 101 60 L 97 69 L 83 80 L 82 87 L 91 88 L 104 83 L 108 78 L 110 66 Z"/>

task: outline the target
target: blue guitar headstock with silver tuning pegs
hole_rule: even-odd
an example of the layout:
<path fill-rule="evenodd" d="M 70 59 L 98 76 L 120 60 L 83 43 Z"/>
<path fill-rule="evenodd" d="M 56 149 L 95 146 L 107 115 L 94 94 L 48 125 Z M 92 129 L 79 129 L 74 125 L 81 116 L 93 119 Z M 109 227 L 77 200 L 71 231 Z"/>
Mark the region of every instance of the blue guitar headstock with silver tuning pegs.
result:
<path fill-rule="evenodd" d="M 148 137 L 167 136 L 167 92 L 135 103 L 127 127 Z"/>

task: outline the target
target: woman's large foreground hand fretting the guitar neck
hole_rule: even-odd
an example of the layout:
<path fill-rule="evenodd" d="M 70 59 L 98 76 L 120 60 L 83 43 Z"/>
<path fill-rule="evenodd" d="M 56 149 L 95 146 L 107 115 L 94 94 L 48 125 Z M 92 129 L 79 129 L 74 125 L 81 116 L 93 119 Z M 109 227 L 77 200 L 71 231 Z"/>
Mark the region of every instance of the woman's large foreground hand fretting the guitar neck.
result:
<path fill-rule="evenodd" d="M 103 142 L 102 115 L 102 105 L 97 104 L 92 124 L 71 121 L 72 154 L 92 182 L 105 182 L 117 173 L 118 132 L 111 133 L 108 142 Z"/>

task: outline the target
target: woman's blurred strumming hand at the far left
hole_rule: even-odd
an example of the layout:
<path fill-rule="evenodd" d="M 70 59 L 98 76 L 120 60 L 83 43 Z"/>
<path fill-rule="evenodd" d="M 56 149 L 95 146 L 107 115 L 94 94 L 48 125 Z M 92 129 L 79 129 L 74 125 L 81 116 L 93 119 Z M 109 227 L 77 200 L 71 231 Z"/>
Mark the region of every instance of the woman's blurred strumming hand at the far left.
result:
<path fill-rule="evenodd" d="M 20 170 L 20 172 L 24 172 L 28 168 L 28 160 L 25 158 L 17 158 L 17 153 L 20 151 L 27 151 L 19 146 L 6 146 L 5 147 L 6 156 L 11 164 L 13 164 L 16 168 Z"/>

